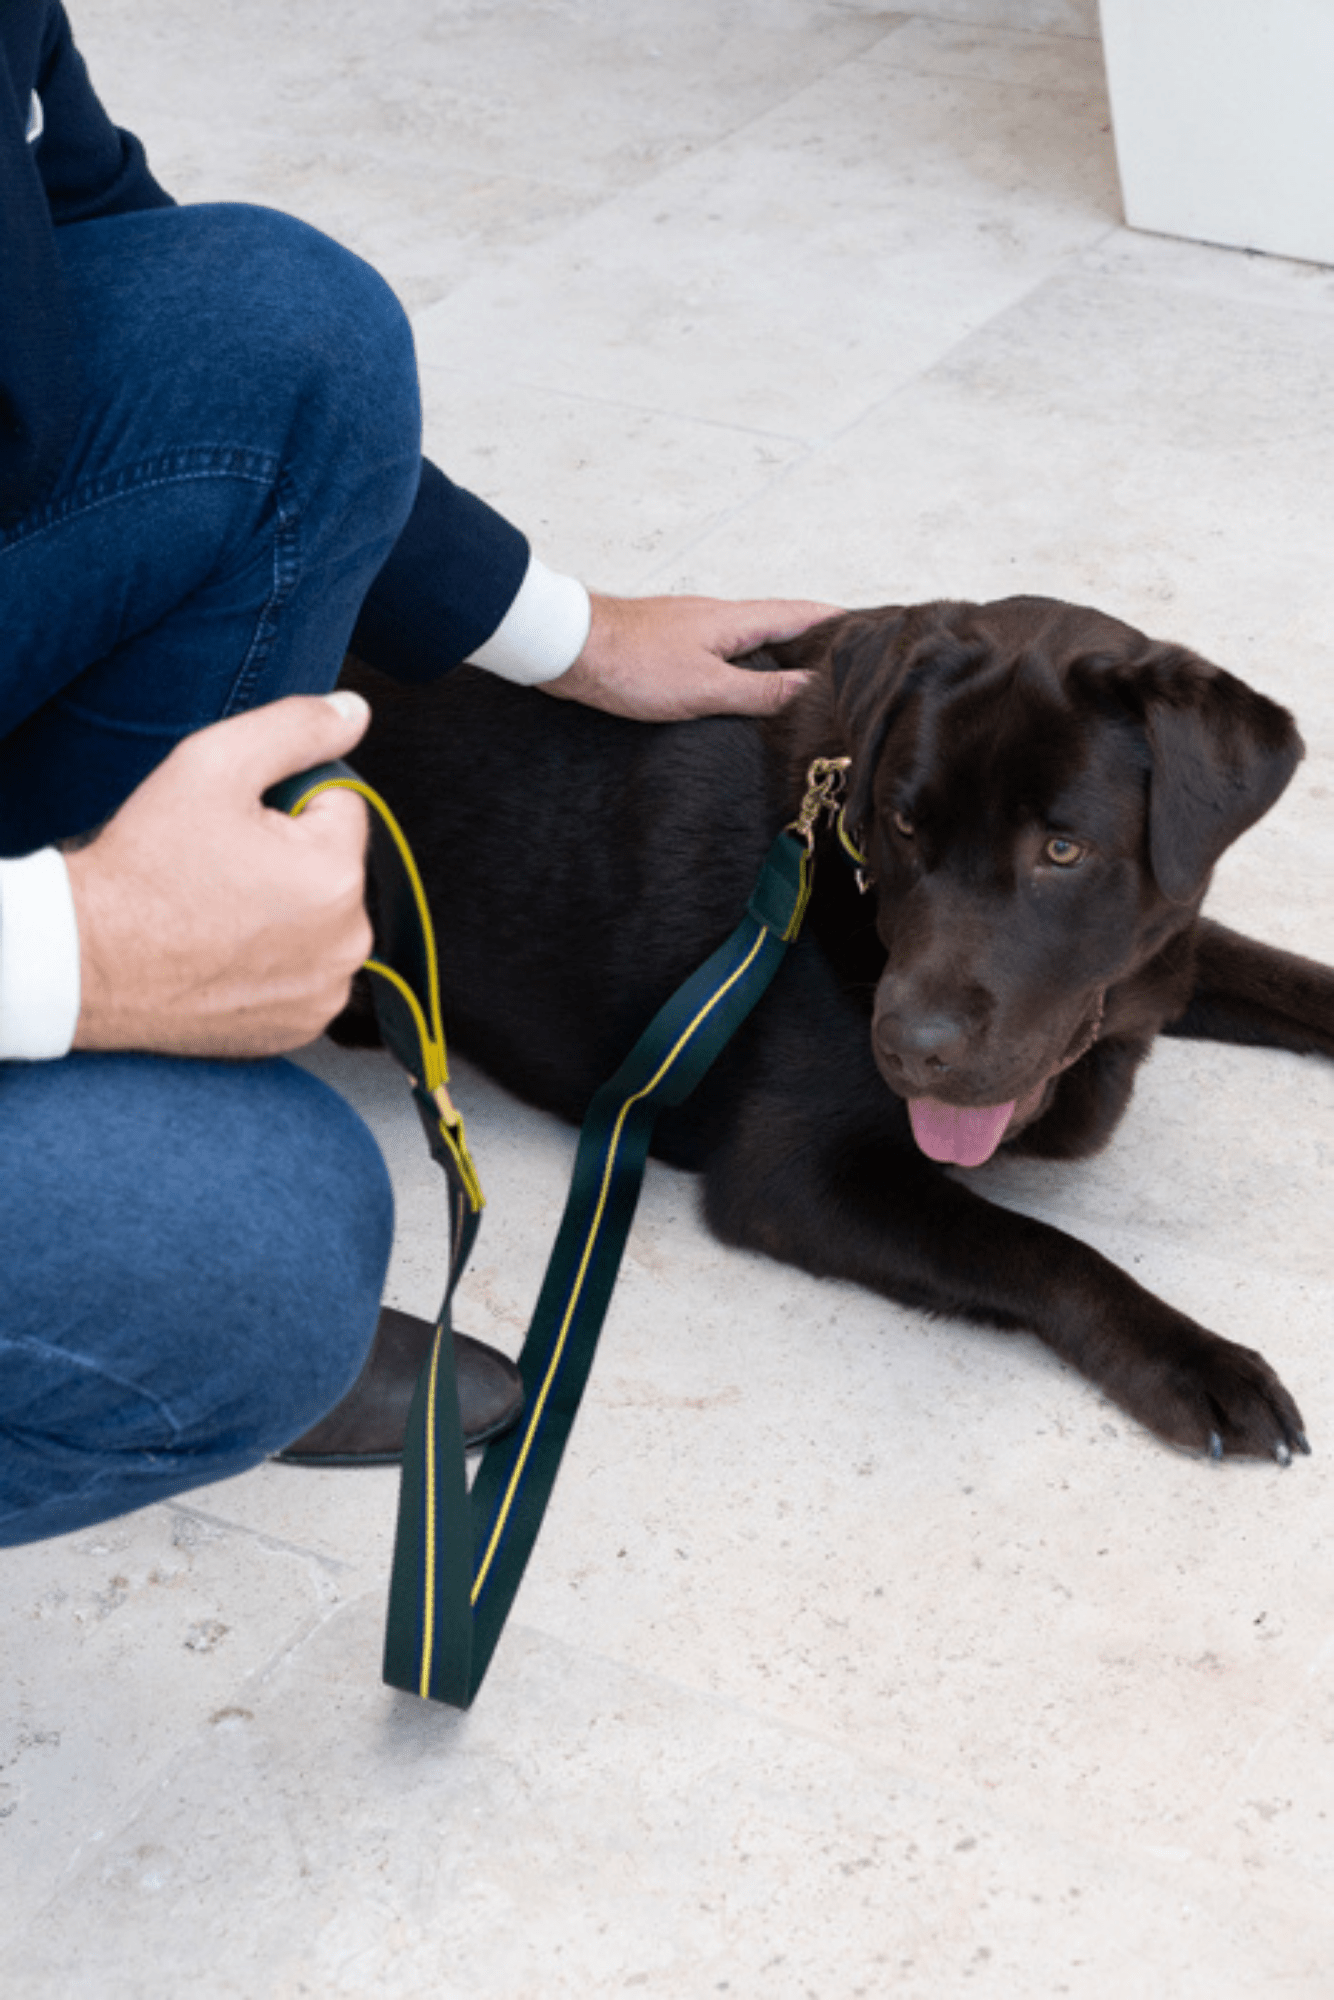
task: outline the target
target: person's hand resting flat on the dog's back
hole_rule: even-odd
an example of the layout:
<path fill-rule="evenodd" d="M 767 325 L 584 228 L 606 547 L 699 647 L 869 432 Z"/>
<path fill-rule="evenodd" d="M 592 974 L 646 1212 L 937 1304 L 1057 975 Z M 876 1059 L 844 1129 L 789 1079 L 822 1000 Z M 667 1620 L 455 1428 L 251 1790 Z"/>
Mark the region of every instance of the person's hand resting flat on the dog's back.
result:
<path fill-rule="evenodd" d="M 756 646 L 798 638 L 836 604 L 768 598 L 592 596 L 592 626 L 582 654 L 542 692 L 636 722 L 686 716 L 772 716 L 806 684 L 792 670 L 756 674 L 728 662 Z"/>

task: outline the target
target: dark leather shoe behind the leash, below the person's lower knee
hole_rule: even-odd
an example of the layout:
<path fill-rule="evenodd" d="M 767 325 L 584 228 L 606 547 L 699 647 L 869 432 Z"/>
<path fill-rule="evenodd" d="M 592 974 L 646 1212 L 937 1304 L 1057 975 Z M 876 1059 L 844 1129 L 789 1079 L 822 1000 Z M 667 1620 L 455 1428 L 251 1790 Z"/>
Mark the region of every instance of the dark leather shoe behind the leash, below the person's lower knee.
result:
<path fill-rule="evenodd" d="M 276 1458 L 288 1466 L 396 1466 L 434 1338 L 430 1320 L 382 1306 L 366 1366 L 348 1394 Z M 468 1334 L 454 1334 L 454 1368 L 464 1448 L 472 1452 L 518 1422 L 524 1386 L 512 1360 Z"/>

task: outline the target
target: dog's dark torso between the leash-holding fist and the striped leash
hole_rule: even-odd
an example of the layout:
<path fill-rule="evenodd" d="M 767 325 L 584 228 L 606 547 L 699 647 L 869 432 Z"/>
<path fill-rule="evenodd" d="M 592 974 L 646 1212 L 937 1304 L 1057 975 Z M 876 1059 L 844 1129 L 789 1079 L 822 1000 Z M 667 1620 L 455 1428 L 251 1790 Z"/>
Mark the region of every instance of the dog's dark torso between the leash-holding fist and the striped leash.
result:
<path fill-rule="evenodd" d="M 458 668 L 360 662 L 362 776 L 428 886 L 454 1046 L 578 1120 L 746 908 L 782 802 L 758 724 L 652 728 Z"/>

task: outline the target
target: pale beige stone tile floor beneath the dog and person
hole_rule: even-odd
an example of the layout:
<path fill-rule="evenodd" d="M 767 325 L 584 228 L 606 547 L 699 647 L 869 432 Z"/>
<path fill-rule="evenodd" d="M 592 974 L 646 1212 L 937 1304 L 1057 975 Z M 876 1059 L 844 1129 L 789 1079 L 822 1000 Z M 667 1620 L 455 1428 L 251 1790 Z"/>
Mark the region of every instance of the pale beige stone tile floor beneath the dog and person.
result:
<path fill-rule="evenodd" d="M 188 198 L 416 320 L 430 442 L 608 588 L 1038 590 L 1288 700 L 1214 908 L 1334 958 L 1334 272 L 1120 224 L 1092 0 L 82 0 Z M 378 1056 L 392 1296 L 436 1190 Z M 572 1134 L 460 1084 L 510 1348 Z M 0 1990 L 1334 1994 L 1334 1074 L 1168 1044 L 1086 1236 L 1298 1392 L 1206 1466 L 1032 1340 L 718 1248 L 656 1170 L 512 1628 L 378 1682 L 392 1474 L 278 1466 L 0 1562 Z"/>

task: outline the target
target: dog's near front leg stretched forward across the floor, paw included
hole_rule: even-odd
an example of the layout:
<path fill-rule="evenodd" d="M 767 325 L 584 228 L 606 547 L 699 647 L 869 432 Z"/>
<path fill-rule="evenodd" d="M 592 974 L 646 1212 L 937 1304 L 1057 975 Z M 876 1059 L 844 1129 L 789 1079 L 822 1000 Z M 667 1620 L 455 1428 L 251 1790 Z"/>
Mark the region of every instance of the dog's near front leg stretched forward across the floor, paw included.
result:
<path fill-rule="evenodd" d="M 902 1304 L 1030 1328 L 1168 1444 L 1282 1464 L 1308 1450 L 1300 1410 L 1260 1354 L 866 1126 L 830 1144 L 838 1122 L 814 1126 L 796 1106 L 784 1116 L 770 1098 L 710 1164 L 718 1236 Z"/>

